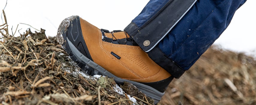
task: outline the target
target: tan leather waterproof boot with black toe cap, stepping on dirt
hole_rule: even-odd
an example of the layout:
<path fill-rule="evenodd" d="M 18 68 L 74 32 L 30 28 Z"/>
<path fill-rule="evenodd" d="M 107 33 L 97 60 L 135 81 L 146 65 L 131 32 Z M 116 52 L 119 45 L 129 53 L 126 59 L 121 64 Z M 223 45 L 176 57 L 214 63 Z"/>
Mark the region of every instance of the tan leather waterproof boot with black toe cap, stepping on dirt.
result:
<path fill-rule="evenodd" d="M 57 38 L 72 60 L 89 75 L 128 81 L 160 101 L 173 77 L 158 66 L 124 31 L 99 29 L 78 16 L 60 24 Z"/>

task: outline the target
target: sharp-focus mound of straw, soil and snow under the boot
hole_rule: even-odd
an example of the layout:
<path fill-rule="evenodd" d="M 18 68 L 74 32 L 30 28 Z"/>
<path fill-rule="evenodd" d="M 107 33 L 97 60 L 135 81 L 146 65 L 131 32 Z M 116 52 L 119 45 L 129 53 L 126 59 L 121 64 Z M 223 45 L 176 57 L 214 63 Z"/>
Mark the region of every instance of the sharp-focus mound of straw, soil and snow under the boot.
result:
<path fill-rule="evenodd" d="M 0 31 L 0 105 L 154 103 L 141 92 L 127 95 L 122 88 L 129 92 L 131 84 L 120 88 L 113 78 L 86 75 L 43 29 L 19 37 Z"/>

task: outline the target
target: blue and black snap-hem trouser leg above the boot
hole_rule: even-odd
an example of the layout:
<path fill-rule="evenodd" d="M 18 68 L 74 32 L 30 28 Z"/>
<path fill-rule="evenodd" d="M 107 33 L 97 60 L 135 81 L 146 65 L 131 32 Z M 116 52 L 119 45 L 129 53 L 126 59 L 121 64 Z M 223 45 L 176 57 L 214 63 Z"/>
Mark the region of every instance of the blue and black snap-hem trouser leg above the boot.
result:
<path fill-rule="evenodd" d="M 150 0 L 125 31 L 179 78 L 219 38 L 246 0 Z"/>

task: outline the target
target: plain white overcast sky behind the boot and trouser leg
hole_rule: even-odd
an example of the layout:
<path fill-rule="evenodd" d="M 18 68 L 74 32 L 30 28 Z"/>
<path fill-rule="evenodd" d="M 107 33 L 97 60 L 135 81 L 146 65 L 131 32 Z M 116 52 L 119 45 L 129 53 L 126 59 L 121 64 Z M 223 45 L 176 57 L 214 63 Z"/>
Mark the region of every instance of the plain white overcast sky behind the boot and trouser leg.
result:
<path fill-rule="evenodd" d="M 54 36 L 60 22 L 78 15 L 96 27 L 123 30 L 137 16 L 149 0 L 8 0 L 4 9 L 9 27 L 26 23 L 43 28 L 46 35 Z M 0 9 L 6 1 L 0 0 Z M 214 44 L 237 52 L 255 54 L 256 1 L 248 0 L 234 15 L 225 32 Z M 1 23 L 1 22 L 0 22 Z M 30 26 L 19 24 L 25 32 Z M 16 34 L 19 35 L 19 34 Z M 255 54 L 256 55 L 256 54 Z M 256 56 L 255 56 L 256 57 Z"/>

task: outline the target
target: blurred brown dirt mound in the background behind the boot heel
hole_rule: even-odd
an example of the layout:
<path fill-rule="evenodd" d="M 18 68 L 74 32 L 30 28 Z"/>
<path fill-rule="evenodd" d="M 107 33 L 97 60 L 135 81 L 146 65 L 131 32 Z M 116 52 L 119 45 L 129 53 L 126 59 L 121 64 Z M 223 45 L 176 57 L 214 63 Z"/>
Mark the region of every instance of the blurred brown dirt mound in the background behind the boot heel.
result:
<path fill-rule="evenodd" d="M 211 47 L 171 82 L 159 104 L 255 105 L 255 77 L 254 58 Z"/>

